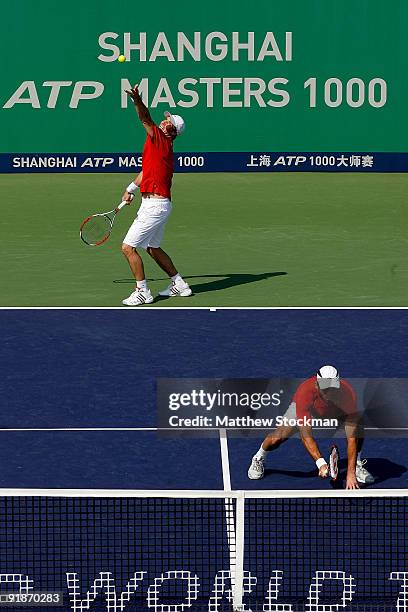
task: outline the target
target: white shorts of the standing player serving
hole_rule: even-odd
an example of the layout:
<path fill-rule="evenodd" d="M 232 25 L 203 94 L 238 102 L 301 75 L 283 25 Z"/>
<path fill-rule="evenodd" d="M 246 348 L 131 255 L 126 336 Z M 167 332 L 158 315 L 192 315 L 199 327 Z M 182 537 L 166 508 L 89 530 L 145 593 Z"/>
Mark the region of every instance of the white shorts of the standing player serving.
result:
<path fill-rule="evenodd" d="M 158 248 L 163 240 L 164 227 L 171 213 L 168 198 L 142 198 L 136 219 L 123 239 L 124 244 L 132 247 Z"/>

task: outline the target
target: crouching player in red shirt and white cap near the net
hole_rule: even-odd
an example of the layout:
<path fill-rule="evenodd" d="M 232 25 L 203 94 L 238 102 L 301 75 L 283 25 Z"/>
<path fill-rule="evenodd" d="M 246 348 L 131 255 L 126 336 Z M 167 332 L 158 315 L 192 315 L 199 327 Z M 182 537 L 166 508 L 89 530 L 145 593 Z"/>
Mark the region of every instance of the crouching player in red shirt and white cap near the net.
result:
<path fill-rule="evenodd" d="M 373 476 L 364 467 L 366 461 L 361 459 L 361 448 L 364 442 L 361 415 L 357 409 L 356 395 L 346 380 L 340 380 L 339 373 L 333 366 L 320 368 L 315 376 L 305 380 L 295 392 L 292 403 L 284 415 L 287 419 L 296 419 L 305 423 L 311 418 L 337 419 L 344 426 L 347 437 L 347 478 L 346 489 L 359 489 L 360 484 L 371 484 Z M 270 451 L 277 449 L 296 431 L 296 426 L 281 425 L 263 441 L 259 451 L 252 458 L 248 477 L 252 480 L 262 478 L 264 465 Z M 309 424 L 299 425 L 302 442 L 316 462 L 321 478 L 329 476 L 329 466 L 322 457 Z"/>

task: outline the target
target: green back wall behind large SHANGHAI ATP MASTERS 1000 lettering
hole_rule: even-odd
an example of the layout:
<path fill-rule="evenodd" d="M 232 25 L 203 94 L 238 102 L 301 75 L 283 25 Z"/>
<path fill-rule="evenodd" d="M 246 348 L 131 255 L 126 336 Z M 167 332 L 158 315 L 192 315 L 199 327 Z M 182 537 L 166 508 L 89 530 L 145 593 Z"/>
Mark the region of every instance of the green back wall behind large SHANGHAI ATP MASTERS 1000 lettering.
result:
<path fill-rule="evenodd" d="M 149 80 L 150 102 L 157 84 L 165 78 L 175 102 L 181 96 L 184 78 L 258 78 L 268 83 L 286 78 L 290 101 L 286 106 L 259 107 L 252 98 L 249 107 L 225 107 L 221 86 L 214 89 L 214 104 L 207 107 L 206 87 L 195 86 L 200 101 L 195 106 L 177 106 L 186 133 L 179 151 L 385 151 L 408 150 L 408 2 L 406 0 L 258 0 L 249 3 L 208 0 L 201 5 L 187 0 L 174 4 L 153 0 L 19 0 L 2 6 L 0 23 L 0 152 L 119 152 L 139 151 L 143 134 L 132 108 L 121 108 L 121 79 Z M 221 31 L 229 41 L 237 31 L 242 39 L 255 34 L 255 57 L 265 33 L 275 34 L 284 52 L 285 32 L 293 32 L 292 61 L 240 61 L 231 53 L 222 61 L 200 61 L 188 54 L 182 62 L 159 57 L 139 61 L 103 62 L 109 55 L 98 44 L 103 32 L 117 32 L 123 48 L 123 33 L 132 40 L 146 32 L 150 54 L 159 32 L 164 32 L 176 52 L 177 32 L 202 39 Z M 111 41 L 113 42 L 113 41 Z M 229 43 L 230 44 L 230 43 Z M 317 78 L 317 103 L 310 108 L 304 82 Z M 343 83 L 343 102 L 336 108 L 324 102 L 324 82 L 338 78 Z M 387 101 L 375 108 L 366 100 L 350 107 L 346 83 L 374 78 L 387 83 Z M 15 104 L 4 108 L 23 81 L 34 81 L 40 108 Z M 83 100 L 70 108 L 73 86 L 63 87 L 55 108 L 47 108 L 50 87 L 44 81 L 98 81 L 104 92 L 97 99 Z M 190 86 L 191 87 L 191 86 Z M 232 85 L 243 91 L 243 86 Z M 282 87 L 282 86 L 280 86 Z M 333 86 L 334 88 L 334 86 Z M 354 96 L 357 96 L 357 86 Z M 367 92 L 366 92 L 367 93 Z M 25 94 L 27 97 L 27 93 Z M 271 99 L 265 94 L 265 102 Z M 231 98 L 243 102 L 243 95 Z M 169 105 L 158 103 L 153 118 L 160 120 Z"/>

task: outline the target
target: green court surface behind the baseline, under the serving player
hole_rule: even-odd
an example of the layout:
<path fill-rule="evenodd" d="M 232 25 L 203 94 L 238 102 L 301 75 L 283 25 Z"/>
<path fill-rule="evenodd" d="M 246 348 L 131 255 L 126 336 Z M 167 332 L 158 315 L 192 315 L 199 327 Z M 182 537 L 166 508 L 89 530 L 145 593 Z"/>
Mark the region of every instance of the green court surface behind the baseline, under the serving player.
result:
<path fill-rule="evenodd" d="M 1 306 L 121 306 L 121 240 L 87 247 L 82 219 L 113 208 L 132 175 L 1 175 Z M 408 175 L 177 174 L 163 248 L 190 298 L 155 306 L 408 306 Z M 153 294 L 167 285 L 144 253 Z"/>

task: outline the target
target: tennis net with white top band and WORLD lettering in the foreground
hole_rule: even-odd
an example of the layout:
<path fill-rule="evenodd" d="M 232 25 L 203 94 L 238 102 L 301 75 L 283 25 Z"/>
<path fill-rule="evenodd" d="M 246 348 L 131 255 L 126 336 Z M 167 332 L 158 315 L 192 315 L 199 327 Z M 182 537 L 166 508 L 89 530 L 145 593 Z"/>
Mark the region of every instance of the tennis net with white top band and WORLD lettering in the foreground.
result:
<path fill-rule="evenodd" d="M 0 553 L 64 610 L 408 612 L 404 491 L 3 490 Z"/>

